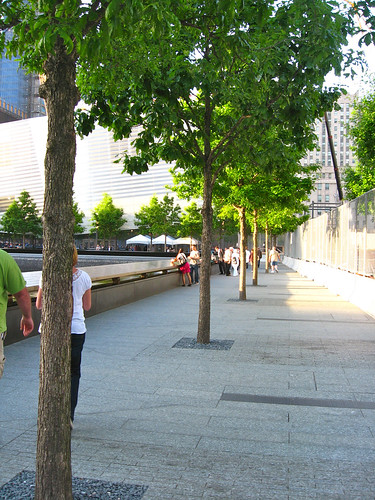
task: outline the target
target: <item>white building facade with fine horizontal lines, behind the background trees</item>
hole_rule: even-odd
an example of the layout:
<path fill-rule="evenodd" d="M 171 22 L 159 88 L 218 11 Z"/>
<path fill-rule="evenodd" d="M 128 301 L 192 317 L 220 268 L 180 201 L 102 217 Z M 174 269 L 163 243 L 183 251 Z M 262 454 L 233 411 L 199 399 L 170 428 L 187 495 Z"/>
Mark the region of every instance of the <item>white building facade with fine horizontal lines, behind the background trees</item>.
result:
<path fill-rule="evenodd" d="M 44 156 L 47 139 L 47 118 L 32 118 L 0 124 L 0 213 L 26 190 L 37 203 L 40 212 L 44 197 Z M 84 139 L 77 137 L 74 200 L 87 218 L 93 208 L 108 193 L 116 206 L 124 209 L 134 228 L 134 213 L 149 204 L 153 195 L 161 198 L 172 185 L 171 165 L 160 162 L 141 175 L 122 174 L 121 163 L 114 161 L 124 151 L 134 151 L 134 137 L 115 142 L 111 132 L 97 127 Z M 184 204 L 179 201 L 179 204 Z"/>

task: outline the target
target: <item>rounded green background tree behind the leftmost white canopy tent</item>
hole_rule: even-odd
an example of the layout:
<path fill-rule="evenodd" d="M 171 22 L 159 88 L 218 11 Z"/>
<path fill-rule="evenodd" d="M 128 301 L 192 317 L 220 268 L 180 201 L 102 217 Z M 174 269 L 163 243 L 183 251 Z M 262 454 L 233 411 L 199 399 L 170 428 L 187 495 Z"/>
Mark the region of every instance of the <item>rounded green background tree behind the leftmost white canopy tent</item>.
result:
<path fill-rule="evenodd" d="M 175 236 L 180 225 L 181 207 L 174 205 L 173 197 L 167 194 L 162 201 L 154 195 L 149 205 L 142 205 L 135 214 L 134 222 L 138 229 L 147 233 L 152 238 L 157 234 L 170 234 Z M 166 246 L 166 243 L 165 243 Z"/>

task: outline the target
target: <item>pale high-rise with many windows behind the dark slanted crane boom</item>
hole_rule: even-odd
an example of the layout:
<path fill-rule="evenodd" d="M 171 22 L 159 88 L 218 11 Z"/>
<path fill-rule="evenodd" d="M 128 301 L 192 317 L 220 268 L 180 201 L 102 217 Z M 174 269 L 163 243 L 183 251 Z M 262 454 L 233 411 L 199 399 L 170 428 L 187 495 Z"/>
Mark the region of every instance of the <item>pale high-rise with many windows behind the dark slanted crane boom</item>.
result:
<path fill-rule="evenodd" d="M 349 135 L 349 124 L 355 98 L 356 95 L 342 95 L 338 100 L 340 110 L 327 113 L 333 149 L 341 179 L 343 170 L 346 167 L 353 167 L 356 163 L 351 149 L 352 139 Z M 303 165 L 319 164 L 322 167 L 317 175 L 315 189 L 310 196 L 312 216 L 321 215 L 340 203 L 327 126 L 324 119 L 315 122 L 315 134 L 318 138 L 317 147 L 302 160 Z"/>

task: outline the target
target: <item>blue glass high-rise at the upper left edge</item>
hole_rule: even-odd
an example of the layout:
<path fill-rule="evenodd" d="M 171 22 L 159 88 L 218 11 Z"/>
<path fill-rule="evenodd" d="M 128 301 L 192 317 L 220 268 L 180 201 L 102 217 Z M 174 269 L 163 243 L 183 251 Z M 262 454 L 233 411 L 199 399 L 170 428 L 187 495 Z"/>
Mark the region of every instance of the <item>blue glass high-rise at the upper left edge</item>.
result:
<path fill-rule="evenodd" d="M 3 54 L 0 58 L 0 123 L 45 116 L 39 85 L 39 75 L 27 74 L 15 58 L 7 59 Z"/>

